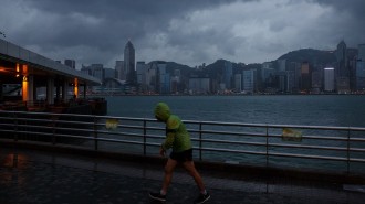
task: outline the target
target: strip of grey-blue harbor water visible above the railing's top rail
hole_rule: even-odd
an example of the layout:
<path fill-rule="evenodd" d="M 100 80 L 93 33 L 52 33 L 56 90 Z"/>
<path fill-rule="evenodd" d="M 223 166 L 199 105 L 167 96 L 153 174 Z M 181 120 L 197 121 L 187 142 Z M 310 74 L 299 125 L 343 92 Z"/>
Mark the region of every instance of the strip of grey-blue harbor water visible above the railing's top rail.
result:
<path fill-rule="evenodd" d="M 158 101 L 186 120 L 365 127 L 365 96 L 117 96 L 108 115 L 154 118 Z"/>

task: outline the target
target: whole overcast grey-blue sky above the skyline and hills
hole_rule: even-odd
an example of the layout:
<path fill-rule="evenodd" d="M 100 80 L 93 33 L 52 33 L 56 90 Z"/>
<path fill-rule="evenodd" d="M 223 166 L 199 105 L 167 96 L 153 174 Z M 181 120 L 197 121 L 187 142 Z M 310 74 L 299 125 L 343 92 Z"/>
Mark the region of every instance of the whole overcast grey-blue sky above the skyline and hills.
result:
<path fill-rule="evenodd" d="M 114 68 L 131 39 L 136 61 L 189 66 L 263 63 L 299 49 L 365 43 L 364 0 L 0 0 L 0 32 L 52 60 Z"/>

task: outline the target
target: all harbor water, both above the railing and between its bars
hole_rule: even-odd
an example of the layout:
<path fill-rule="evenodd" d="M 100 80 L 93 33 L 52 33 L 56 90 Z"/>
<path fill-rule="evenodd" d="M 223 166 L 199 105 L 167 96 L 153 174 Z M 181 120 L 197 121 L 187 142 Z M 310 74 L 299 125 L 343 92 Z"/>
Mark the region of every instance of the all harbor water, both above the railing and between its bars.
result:
<path fill-rule="evenodd" d="M 268 124 L 268 125 L 298 125 L 298 126 L 331 126 L 331 127 L 365 127 L 365 96 L 359 95 L 260 95 L 260 96 L 111 96 L 106 97 L 108 104 L 108 116 L 132 117 L 132 118 L 154 118 L 154 107 L 158 101 L 167 103 L 173 114 L 180 116 L 182 120 L 195 121 L 218 121 L 218 122 L 242 122 L 242 124 Z M 163 125 L 161 125 L 163 126 Z M 188 125 L 188 128 L 191 128 Z M 223 131 L 258 131 L 264 132 L 264 129 L 232 129 L 232 127 L 209 127 L 210 129 Z M 270 130 L 271 131 L 271 130 Z M 281 133 L 282 129 L 277 132 Z M 328 136 L 328 137 L 347 137 L 347 132 L 337 131 L 316 131 L 301 130 L 303 136 Z M 161 132 L 160 132 L 161 133 Z M 357 132 L 362 133 L 362 132 Z M 191 133 L 192 138 L 198 138 Z M 352 137 L 364 137 L 355 136 Z M 246 142 L 264 142 L 264 138 L 260 137 L 227 137 L 227 136 L 209 136 L 205 135 L 206 139 L 218 140 L 234 140 Z M 126 138 L 123 138 L 126 139 Z M 161 142 L 161 141 L 154 141 Z M 289 142 L 281 141 L 280 138 L 270 138 L 271 143 Z M 351 143 L 352 148 L 365 148 L 365 142 Z M 292 144 L 303 146 L 323 146 L 323 147 L 342 147 L 346 148 L 346 141 L 327 141 L 327 140 L 310 140 L 305 139 Z M 198 143 L 195 143 L 197 147 Z M 220 143 L 206 143 L 205 148 L 223 148 L 232 149 L 233 146 Z M 118 148 L 121 146 L 105 143 L 105 149 Z M 240 150 L 261 151 L 264 152 L 265 147 L 241 146 L 237 147 Z M 124 149 L 133 151 L 133 147 L 125 146 Z M 139 151 L 139 149 L 136 149 Z M 147 150 L 149 153 L 157 152 L 157 149 Z M 280 149 L 271 148 L 269 151 L 299 154 L 317 154 L 323 157 L 344 157 L 346 152 L 322 151 L 313 149 Z M 197 157 L 197 151 L 196 151 Z M 364 158 L 365 153 L 357 153 L 356 158 Z M 222 152 L 206 152 L 205 160 L 267 164 L 267 157 L 244 154 L 244 153 L 222 153 Z M 312 159 L 293 159 L 282 157 L 271 157 L 271 165 L 288 165 L 294 168 L 313 167 L 334 169 L 338 171 L 347 171 L 346 162 L 333 162 Z M 351 164 L 351 171 L 363 171 L 364 164 Z"/>

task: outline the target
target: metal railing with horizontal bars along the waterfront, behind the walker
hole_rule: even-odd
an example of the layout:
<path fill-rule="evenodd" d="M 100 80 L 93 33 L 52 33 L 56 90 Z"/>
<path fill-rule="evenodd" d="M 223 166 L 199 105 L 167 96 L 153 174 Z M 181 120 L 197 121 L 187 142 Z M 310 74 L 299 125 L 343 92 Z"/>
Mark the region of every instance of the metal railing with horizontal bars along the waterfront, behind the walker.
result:
<path fill-rule="evenodd" d="M 184 121 L 195 159 L 365 172 L 365 128 Z M 1 139 L 156 155 L 165 125 L 148 118 L 0 111 Z"/>

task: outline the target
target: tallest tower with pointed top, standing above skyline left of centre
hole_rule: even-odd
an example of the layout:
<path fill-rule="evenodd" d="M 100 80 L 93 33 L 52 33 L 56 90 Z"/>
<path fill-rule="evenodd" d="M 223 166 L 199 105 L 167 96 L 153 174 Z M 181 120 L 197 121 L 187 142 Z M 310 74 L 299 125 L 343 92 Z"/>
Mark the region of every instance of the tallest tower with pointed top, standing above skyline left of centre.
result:
<path fill-rule="evenodd" d="M 135 50 L 131 41 L 127 42 L 124 49 L 124 71 L 127 83 L 136 85 Z"/>

